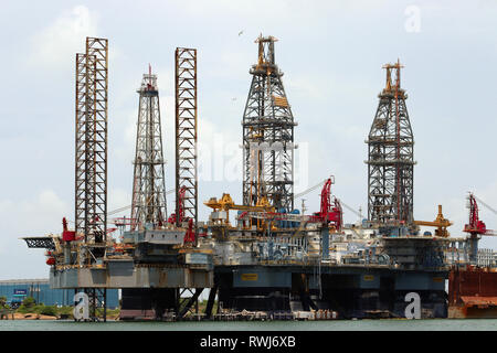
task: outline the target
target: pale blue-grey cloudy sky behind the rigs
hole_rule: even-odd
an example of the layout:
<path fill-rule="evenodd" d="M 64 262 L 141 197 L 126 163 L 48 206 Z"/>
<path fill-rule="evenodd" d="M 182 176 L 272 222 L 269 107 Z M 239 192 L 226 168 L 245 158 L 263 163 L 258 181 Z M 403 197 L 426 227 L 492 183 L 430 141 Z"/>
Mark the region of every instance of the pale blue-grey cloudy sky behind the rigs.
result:
<path fill-rule="evenodd" d="M 468 191 L 497 208 L 495 1 L 1 0 L 1 9 L 0 279 L 47 277 L 44 252 L 19 238 L 59 234 L 62 217 L 74 221 L 74 66 L 86 36 L 109 41 L 109 211 L 130 204 L 136 89 L 149 64 L 166 189 L 175 185 L 179 46 L 198 50 L 199 203 L 224 192 L 241 203 L 241 121 L 261 33 L 278 39 L 275 57 L 298 122 L 295 193 L 334 175 L 332 193 L 366 214 L 364 140 L 382 65 L 400 60 L 417 162 L 414 218 L 434 220 L 442 204 L 452 236 L 462 236 Z M 319 190 L 305 199 L 308 212 L 319 210 Z M 169 196 L 168 213 L 173 207 Z M 347 223 L 358 220 L 345 211 Z M 200 204 L 199 214 L 207 221 L 209 208 Z M 483 206 L 480 220 L 497 229 L 497 215 Z M 480 246 L 497 249 L 497 237 Z"/>

